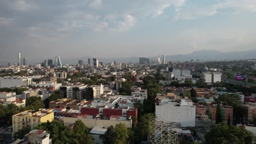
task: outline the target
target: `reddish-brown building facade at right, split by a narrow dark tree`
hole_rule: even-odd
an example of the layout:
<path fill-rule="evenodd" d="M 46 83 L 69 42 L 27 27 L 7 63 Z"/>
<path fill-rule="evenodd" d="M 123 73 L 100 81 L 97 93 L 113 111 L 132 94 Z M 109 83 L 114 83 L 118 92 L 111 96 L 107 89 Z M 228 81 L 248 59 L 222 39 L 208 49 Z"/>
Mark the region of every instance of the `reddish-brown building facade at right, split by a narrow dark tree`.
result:
<path fill-rule="evenodd" d="M 222 111 L 222 119 L 225 122 L 228 122 L 230 117 L 230 123 L 233 120 L 233 107 L 229 105 L 220 105 L 220 109 Z M 216 121 L 216 112 L 217 112 L 217 105 L 210 105 L 209 106 L 209 113 L 212 114 L 212 122 Z"/>

